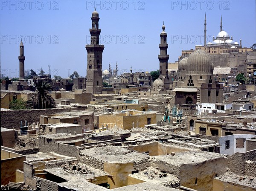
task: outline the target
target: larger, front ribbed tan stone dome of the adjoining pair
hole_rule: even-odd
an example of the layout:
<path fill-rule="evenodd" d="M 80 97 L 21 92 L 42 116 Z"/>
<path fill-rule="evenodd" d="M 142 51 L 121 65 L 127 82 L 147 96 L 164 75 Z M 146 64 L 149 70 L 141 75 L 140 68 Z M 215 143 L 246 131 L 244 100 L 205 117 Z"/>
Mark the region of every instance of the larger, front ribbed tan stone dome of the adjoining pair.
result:
<path fill-rule="evenodd" d="M 195 74 L 212 74 L 213 65 L 209 54 L 201 49 L 194 51 L 187 60 L 186 71 Z"/>

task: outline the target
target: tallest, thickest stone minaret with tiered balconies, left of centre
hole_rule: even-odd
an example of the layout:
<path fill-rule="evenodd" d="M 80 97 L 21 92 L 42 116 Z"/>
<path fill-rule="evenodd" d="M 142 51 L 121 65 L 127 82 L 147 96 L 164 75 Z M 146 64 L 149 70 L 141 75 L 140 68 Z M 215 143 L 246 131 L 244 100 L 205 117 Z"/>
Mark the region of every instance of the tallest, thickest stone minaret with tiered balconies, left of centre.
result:
<path fill-rule="evenodd" d="M 102 52 L 104 45 L 99 44 L 99 13 L 96 9 L 92 13 L 92 28 L 90 29 L 91 41 L 87 44 L 87 77 L 86 92 L 102 93 Z"/>

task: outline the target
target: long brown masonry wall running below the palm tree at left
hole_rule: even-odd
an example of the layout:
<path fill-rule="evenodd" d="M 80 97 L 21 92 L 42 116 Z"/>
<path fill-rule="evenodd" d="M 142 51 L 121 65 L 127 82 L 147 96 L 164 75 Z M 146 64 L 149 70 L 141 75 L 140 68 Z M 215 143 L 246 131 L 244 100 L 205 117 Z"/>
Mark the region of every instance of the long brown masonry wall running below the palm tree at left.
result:
<path fill-rule="evenodd" d="M 61 112 L 70 112 L 71 108 L 38 109 L 38 110 L 7 110 L 1 111 L 1 127 L 16 130 L 20 129 L 20 121 L 25 125 L 25 120 L 32 124 L 40 122 L 41 115 L 52 115 Z"/>

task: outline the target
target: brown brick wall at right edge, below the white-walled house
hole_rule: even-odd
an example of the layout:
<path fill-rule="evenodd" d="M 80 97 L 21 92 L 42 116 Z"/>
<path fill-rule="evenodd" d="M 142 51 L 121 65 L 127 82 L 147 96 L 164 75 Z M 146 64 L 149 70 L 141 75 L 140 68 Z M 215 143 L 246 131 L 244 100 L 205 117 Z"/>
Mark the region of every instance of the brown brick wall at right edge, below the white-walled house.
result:
<path fill-rule="evenodd" d="M 245 168 L 245 162 L 247 160 L 256 162 L 256 150 L 250 150 L 245 153 L 235 153 L 228 156 L 228 167 L 230 168 L 231 172 L 243 176 L 249 173 L 249 164 L 247 164 L 247 168 Z"/>

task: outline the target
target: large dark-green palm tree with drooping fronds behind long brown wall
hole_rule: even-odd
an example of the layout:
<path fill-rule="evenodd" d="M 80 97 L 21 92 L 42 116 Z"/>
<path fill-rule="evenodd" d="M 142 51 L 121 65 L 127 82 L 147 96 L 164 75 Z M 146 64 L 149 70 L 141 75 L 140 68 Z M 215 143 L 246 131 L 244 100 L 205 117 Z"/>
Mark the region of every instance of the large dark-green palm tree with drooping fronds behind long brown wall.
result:
<path fill-rule="evenodd" d="M 38 80 L 35 83 L 35 95 L 32 96 L 32 100 L 28 104 L 32 105 L 34 109 L 49 109 L 56 108 L 55 101 L 50 95 L 49 91 L 52 91 L 52 85 L 46 81 Z"/>

